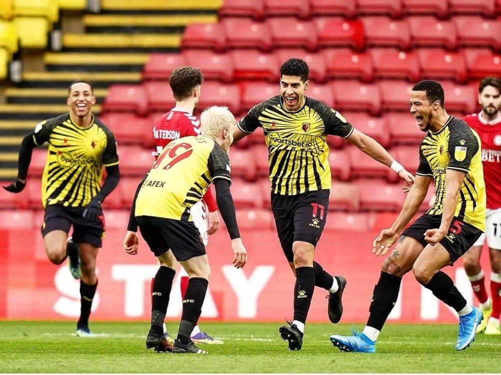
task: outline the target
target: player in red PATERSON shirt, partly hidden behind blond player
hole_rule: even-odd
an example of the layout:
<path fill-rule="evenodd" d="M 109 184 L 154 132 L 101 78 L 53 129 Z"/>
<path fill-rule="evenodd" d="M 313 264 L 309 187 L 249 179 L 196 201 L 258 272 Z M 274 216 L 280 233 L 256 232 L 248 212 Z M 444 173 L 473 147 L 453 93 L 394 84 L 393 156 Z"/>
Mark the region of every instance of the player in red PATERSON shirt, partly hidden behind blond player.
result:
<path fill-rule="evenodd" d="M 156 147 L 156 151 L 153 153 L 154 156 L 158 157 L 163 148 L 172 140 L 200 135 L 200 121 L 193 115 L 193 111 L 198 105 L 202 82 L 202 73 L 196 68 L 180 67 L 174 69 L 170 74 L 169 85 L 174 94 L 176 105 L 155 123 L 153 128 L 153 138 Z M 215 233 L 219 224 L 217 205 L 210 188 L 207 189 L 202 199 L 191 207 L 190 212 L 193 223 L 202 236 L 203 244 L 207 246 L 208 236 Z M 166 277 L 168 278 L 168 274 L 172 271 L 175 272 L 179 263 L 174 257 L 169 257 L 168 261 L 168 263 L 160 264 L 155 278 L 152 279 L 152 298 L 154 298 L 153 293 L 170 294 L 172 284 L 165 283 L 162 280 Z M 183 298 L 187 286 L 188 277 L 182 276 L 180 287 Z M 166 308 L 167 305 L 165 305 Z M 165 311 L 163 313 L 165 314 Z M 166 338 L 174 342 L 167 332 Z M 193 332 L 191 332 L 191 339 L 196 343 L 223 343 L 222 340 L 215 339 L 206 332 L 201 331 L 198 324 L 195 325 Z"/>

